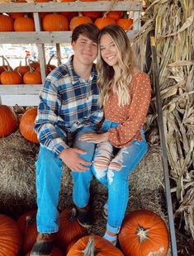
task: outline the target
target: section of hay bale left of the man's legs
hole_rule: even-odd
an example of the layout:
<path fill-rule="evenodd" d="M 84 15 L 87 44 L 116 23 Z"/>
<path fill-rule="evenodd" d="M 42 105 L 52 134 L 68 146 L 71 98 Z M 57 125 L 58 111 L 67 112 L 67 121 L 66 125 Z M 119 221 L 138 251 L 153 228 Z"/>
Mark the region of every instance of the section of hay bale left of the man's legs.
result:
<path fill-rule="evenodd" d="M 35 156 L 39 146 L 19 131 L 0 139 L 0 212 L 20 216 L 35 207 Z"/>

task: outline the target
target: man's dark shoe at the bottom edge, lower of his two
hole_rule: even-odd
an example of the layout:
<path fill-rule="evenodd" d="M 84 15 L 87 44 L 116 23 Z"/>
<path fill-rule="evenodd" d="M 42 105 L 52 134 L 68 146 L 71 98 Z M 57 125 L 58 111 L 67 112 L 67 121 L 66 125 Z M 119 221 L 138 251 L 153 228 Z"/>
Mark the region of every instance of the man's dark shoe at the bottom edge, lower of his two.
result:
<path fill-rule="evenodd" d="M 53 249 L 53 242 L 56 233 L 41 234 L 39 233 L 34 246 L 31 249 L 31 256 L 48 256 Z"/>

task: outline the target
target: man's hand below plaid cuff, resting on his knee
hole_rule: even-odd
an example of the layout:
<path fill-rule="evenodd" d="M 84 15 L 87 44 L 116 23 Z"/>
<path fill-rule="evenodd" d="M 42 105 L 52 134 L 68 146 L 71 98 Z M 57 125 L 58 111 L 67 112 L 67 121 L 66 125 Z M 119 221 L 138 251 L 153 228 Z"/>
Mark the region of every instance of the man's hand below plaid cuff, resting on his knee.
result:
<path fill-rule="evenodd" d="M 73 172 L 85 172 L 88 167 L 84 165 L 90 165 L 91 163 L 83 160 L 78 154 L 87 154 L 86 151 L 82 149 L 64 149 L 60 154 L 59 158 L 62 159 L 64 164 L 66 164 Z"/>

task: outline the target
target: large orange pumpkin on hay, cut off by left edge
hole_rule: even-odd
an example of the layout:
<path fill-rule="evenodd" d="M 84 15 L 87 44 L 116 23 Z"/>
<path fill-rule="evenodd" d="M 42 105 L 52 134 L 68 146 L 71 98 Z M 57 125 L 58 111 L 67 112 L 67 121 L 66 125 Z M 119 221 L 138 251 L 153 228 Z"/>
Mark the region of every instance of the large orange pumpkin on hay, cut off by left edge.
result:
<path fill-rule="evenodd" d="M 17 130 L 17 115 L 12 107 L 0 105 L 0 138 Z"/>

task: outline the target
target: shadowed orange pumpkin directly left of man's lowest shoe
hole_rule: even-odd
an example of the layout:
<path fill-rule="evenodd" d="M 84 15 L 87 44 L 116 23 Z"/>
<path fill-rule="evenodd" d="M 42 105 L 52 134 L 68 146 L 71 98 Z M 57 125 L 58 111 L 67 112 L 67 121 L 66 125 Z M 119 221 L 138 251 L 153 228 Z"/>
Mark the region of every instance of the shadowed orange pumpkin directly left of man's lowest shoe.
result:
<path fill-rule="evenodd" d="M 38 231 L 36 229 L 36 211 L 27 211 L 17 220 L 22 235 L 21 252 L 26 254 L 35 244 Z"/>

